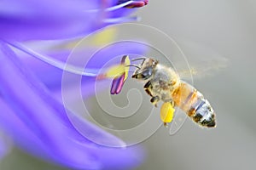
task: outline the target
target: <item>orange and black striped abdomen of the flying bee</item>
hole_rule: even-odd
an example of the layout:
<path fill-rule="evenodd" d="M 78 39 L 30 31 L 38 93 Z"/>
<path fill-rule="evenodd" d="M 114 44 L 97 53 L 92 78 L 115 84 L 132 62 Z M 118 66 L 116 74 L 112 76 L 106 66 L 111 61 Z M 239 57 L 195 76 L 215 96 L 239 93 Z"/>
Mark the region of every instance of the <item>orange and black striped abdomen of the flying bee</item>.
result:
<path fill-rule="evenodd" d="M 215 127 L 215 113 L 203 95 L 186 82 L 172 93 L 172 99 L 179 108 L 203 127 Z"/>

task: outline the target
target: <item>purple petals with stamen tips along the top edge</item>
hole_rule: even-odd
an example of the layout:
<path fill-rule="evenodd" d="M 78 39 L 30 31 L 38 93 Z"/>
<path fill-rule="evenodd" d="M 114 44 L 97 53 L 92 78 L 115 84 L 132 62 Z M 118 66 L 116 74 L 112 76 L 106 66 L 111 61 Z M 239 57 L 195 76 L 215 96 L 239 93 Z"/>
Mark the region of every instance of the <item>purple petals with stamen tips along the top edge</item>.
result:
<path fill-rule="evenodd" d="M 131 8 L 147 3 L 148 0 L 2 0 L 0 37 L 21 41 L 84 36 L 109 24 L 136 20 L 127 16 L 134 11 Z"/>

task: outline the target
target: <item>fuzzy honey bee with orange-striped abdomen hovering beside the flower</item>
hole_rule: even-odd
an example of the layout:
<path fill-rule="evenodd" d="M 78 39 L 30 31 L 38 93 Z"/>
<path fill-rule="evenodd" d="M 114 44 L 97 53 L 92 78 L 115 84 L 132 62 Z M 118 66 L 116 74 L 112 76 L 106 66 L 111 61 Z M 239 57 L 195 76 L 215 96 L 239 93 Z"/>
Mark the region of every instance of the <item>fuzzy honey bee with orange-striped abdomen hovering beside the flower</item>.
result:
<path fill-rule="evenodd" d="M 157 59 L 143 58 L 132 78 L 146 81 L 144 89 L 151 96 L 153 105 L 157 106 L 160 100 L 170 103 L 201 127 L 216 127 L 215 112 L 208 100 L 189 83 L 181 80 L 172 67 L 161 65 Z"/>

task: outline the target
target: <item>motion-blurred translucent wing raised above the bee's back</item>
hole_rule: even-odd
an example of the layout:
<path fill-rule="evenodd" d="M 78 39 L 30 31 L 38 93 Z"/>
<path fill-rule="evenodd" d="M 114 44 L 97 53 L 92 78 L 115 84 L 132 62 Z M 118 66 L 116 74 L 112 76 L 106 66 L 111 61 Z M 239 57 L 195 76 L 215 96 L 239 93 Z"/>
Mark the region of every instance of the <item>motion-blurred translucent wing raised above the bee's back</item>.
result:
<path fill-rule="evenodd" d="M 184 80 L 214 75 L 228 65 L 228 59 L 212 48 L 197 42 L 181 41 L 178 43 L 187 63 L 185 65 L 177 60 L 173 62 L 173 67 Z"/>

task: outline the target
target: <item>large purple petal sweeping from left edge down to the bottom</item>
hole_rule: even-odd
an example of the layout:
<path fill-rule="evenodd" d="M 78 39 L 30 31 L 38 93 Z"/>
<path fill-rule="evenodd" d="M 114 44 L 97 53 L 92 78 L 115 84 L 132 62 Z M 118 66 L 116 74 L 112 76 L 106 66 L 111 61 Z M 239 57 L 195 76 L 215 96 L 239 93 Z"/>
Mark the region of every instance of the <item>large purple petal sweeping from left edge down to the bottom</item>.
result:
<path fill-rule="evenodd" d="M 51 97 L 3 42 L 0 42 L 0 123 L 25 150 L 73 168 L 133 166 L 135 150 L 99 146 L 73 127 L 63 105 Z M 121 141 L 99 127 L 68 113 L 84 132 L 112 144 Z M 72 154 L 71 154 L 72 150 Z"/>

